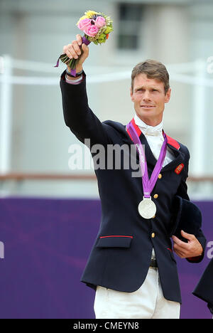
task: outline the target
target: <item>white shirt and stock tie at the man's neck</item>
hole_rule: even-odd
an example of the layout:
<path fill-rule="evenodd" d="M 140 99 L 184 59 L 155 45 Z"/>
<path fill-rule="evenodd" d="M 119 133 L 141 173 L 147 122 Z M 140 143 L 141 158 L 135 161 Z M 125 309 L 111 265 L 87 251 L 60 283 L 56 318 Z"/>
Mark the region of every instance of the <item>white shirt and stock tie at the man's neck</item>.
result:
<path fill-rule="evenodd" d="M 141 129 L 141 132 L 145 135 L 148 145 L 151 148 L 151 151 L 155 159 L 158 159 L 160 154 L 160 149 L 164 141 L 163 132 L 162 132 L 163 121 L 160 122 L 160 124 L 158 124 L 157 126 L 153 127 L 146 125 L 146 123 L 143 122 L 137 115 L 135 115 L 134 120 L 136 122 L 136 125 L 138 125 L 138 127 Z M 175 159 L 174 154 L 171 151 L 171 149 L 167 147 L 163 166 L 172 162 L 173 159 Z"/>

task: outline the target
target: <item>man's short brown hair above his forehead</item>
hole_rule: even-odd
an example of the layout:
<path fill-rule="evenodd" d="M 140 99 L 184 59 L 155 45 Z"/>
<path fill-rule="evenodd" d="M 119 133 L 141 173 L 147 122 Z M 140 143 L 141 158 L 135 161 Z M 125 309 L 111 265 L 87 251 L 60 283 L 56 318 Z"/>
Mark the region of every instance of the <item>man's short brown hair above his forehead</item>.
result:
<path fill-rule="evenodd" d="M 133 83 L 137 75 L 144 73 L 147 78 L 159 80 L 164 84 L 165 94 L 170 88 L 170 76 L 163 63 L 148 59 L 143 63 L 138 63 L 131 72 L 131 91 L 133 92 Z"/>

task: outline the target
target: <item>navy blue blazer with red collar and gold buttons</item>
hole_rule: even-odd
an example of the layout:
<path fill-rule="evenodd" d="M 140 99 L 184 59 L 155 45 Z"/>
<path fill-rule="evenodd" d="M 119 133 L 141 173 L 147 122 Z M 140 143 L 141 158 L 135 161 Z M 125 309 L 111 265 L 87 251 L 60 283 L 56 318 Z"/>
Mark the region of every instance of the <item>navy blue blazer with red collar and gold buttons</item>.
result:
<path fill-rule="evenodd" d="M 65 82 L 64 72 L 60 87 L 65 123 L 81 142 L 89 138 L 91 145 L 103 144 L 104 147 L 107 144 L 127 144 L 129 147 L 133 144 L 125 125 L 111 120 L 100 122 L 90 110 L 85 75 L 82 83 L 70 85 Z M 145 144 L 148 174 L 151 176 L 156 159 L 143 133 L 140 139 Z M 138 213 L 138 203 L 143 199 L 143 186 L 141 177 L 132 177 L 135 170 L 131 167 L 125 169 L 122 164 L 119 170 L 95 170 L 102 203 L 102 221 L 81 279 L 94 290 L 97 285 L 121 292 L 138 290 L 146 279 L 154 248 L 163 295 L 167 300 L 181 302 L 177 264 L 170 237 L 174 226 L 175 195 L 189 200 L 185 181 L 190 154 L 187 147 L 169 137 L 168 147 L 172 149 L 175 159 L 161 169 L 161 178 L 151 193 L 157 206 L 155 218 L 147 220 Z M 181 164 L 183 168 L 180 168 Z M 182 169 L 181 172 L 176 172 L 178 167 Z M 153 198 L 154 194 L 158 194 L 157 199 Z M 202 231 L 195 236 L 204 248 Z M 192 262 L 200 260 L 202 258 L 195 258 Z"/>

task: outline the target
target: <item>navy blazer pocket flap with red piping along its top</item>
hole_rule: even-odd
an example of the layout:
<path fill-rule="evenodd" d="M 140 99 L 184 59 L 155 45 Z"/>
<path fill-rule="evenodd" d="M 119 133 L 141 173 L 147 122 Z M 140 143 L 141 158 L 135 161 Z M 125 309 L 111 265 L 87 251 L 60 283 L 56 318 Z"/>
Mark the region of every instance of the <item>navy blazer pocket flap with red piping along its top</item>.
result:
<path fill-rule="evenodd" d="M 100 236 L 97 248 L 130 248 L 133 236 Z"/>

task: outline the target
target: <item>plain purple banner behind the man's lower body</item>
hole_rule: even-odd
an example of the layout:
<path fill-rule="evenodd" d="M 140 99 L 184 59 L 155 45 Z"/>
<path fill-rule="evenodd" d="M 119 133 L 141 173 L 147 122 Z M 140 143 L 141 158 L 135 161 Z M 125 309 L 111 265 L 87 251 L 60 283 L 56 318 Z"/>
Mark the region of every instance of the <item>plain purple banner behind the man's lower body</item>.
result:
<path fill-rule="evenodd" d="M 213 242 L 212 202 L 196 202 L 207 244 Z M 80 282 L 99 230 L 98 200 L 0 199 L 0 317 L 94 318 L 94 290 Z M 211 318 L 191 294 L 209 263 L 178 260 L 181 318 Z M 212 250 L 213 254 L 213 250 Z"/>

